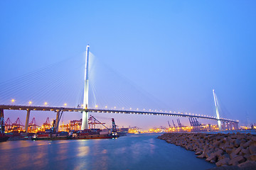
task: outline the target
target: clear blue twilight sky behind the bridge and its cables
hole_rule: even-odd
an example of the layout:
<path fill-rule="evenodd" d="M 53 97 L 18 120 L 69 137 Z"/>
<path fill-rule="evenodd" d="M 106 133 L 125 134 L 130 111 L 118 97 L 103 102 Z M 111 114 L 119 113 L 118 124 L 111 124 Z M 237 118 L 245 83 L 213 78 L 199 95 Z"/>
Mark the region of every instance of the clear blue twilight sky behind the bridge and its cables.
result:
<path fill-rule="evenodd" d="M 83 53 L 90 44 L 90 52 L 97 61 L 110 68 L 97 64 L 95 69 L 114 70 L 117 74 L 111 82 L 108 76 L 101 76 L 105 81 L 97 84 L 97 91 L 105 91 L 105 101 L 110 107 L 115 105 L 112 100 L 118 100 L 108 98 L 110 94 L 117 93 L 117 89 L 122 94 L 122 88 L 131 83 L 141 89 L 142 94 L 150 94 L 163 103 L 164 109 L 214 115 L 212 89 L 215 89 L 222 117 L 240 120 L 241 125 L 255 123 L 255 8 L 255 1 L 1 1 L 1 89 L 6 86 L 11 86 L 10 91 L 21 86 L 26 89 L 41 74 L 31 79 L 27 76 L 11 85 L 3 82 L 74 57 L 72 62 L 58 65 L 66 71 L 65 76 L 60 78 L 61 72 L 52 74 L 52 70 L 47 78 L 51 84 L 58 84 L 54 81 L 56 77 L 60 84 L 69 84 L 68 79 L 72 81 L 70 77 L 78 75 L 76 71 L 83 72 Z M 106 75 L 113 76 L 112 71 L 109 72 Z M 111 85 L 122 79 L 129 83 Z M 41 103 L 48 94 L 64 88 L 50 91 L 38 89 L 35 84 L 30 84 L 28 89 L 32 94 L 42 91 Z M 80 89 L 78 84 L 79 88 L 67 86 Z M 129 87 L 126 90 L 123 96 L 134 96 L 129 98 L 132 103 L 141 102 L 136 98 L 136 91 L 129 91 Z M 1 101 L 16 98 L 18 104 L 17 98 L 28 93 L 23 89 L 17 91 L 11 96 L 3 92 Z M 67 91 L 70 90 L 65 93 Z M 104 96 L 97 95 L 98 98 Z M 124 103 L 126 101 L 124 98 Z M 154 106 L 154 102 L 149 102 L 145 106 L 159 109 L 161 104 Z M 13 122 L 18 116 L 25 122 L 26 113 L 6 111 L 5 115 Z M 55 114 L 32 113 L 32 116 L 43 123 L 47 116 L 54 118 Z M 80 113 L 65 114 L 64 121 L 80 117 Z M 141 128 L 166 126 L 167 120 L 176 120 L 143 115 L 99 115 L 102 120 L 111 117 L 116 118 L 119 125 Z M 188 124 L 188 120 L 182 119 L 181 123 Z"/>

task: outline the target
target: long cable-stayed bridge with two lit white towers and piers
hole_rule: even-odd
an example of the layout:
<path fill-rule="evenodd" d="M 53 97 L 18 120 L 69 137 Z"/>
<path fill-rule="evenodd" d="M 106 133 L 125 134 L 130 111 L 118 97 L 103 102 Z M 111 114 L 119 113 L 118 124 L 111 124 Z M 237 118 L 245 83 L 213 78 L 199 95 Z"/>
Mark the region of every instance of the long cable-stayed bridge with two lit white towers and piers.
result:
<path fill-rule="evenodd" d="M 53 71 L 53 70 L 51 70 Z M 50 72 L 47 70 L 47 72 Z M 191 114 L 191 113 L 176 113 L 176 112 L 171 112 L 171 111 L 156 111 L 156 110 L 151 110 L 151 109 L 143 109 L 142 111 L 137 109 L 117 109 L 116 107 L 109 109 L 109 108 L 98 108 L 97 105 L 95 107 L 90 107 L 89 105 L 89 46 L 87 46 L 86 50 L 86 57 L 85 57 L 85 79 L 84 79 L 84 87 L 83 91 L 80 94 L 80 97 L 82 97 L 82 103 L 81 106 L 77 107 L 68 107 L 66 104 L 61 107 L 55 107 L 55 106 L 48 106 L 48 103 L 45 102 L 45 106 L 33 106 L 32 101 L 28 102 L 28 105 L 17 105 L 17 104 L 1 104 L 0 103 L 0 111 L 1 115 L 4 118 L 4 110 L 22 110 L 22 111 L 27 111 L 26 114 L 26 126 L 25 130 L 26 132 L 28 131 L 28 121 L 30 117 L 31 111 L 54 111 L 56 112 L 56 122 L 57 122 L 57 127 L 58 123 L 60 122 L 60 117 L 63 112 L 80 112 L 82 113 L 82 129 L 87 129 L 88 128 L 88 113 L 122 113 L 122 114 L 135 114 L 135 115 L 160 115 L 160 116 L 176 116 L 176 117 L 184 117 L 184 118 L 201 118 L 201 119 L 207 119 L 207 120 L 216 120 L 218 122 L 218 127 L 221 130 L 221 123 L 226 124 L 226 125 L 231 125 L 233 128 L 238 129 L 238 120 L 230 120 L 226 118 L 220 118 L 219 111 L 218 111 L 218 101 L 216 99 L 216 96 L 213 91 L 213 96 L 215 99 L 215 109 L 216 109 L 216 117 L 213 116 L 208 116 L 208 115 L 199 115 L 199 114 Z M 34 75 L 31 74 L 31 77 Z M 35 77 L 36 78 L 36 77 Z M 34 78 L 34 79 L 35 79 Z M 65 77 L 62 77 L 63 82 L 65 82 Z M 80 85 L 82 82 L 79 82 Z M 54 81 L 54 84 L 58 84 L 56 81 Z M 23 86 L 28 86 L 28 84 L 25 84 Z M 65 86 L 65 84 L 63 84 Z M 6 89 L 8 92 L 9 89 Z M 51 91 L 54 91 L 55 89 L 51 89 Z M 46 96 L 47 93 L 50 93 L 50 91 L 46 91 L 43 95 Z M 67 92 L 68 93 L 68 92 Z M 65 93 L 63 93 L 65 95 Z M 7 96 L 7 94 L 6 94 Z M 96 98 L 97 99 L 97 98 Z M 12 99 L 14 100 L 14 99 Z M 125 98 L 121 99 L 125 100 Z"/>

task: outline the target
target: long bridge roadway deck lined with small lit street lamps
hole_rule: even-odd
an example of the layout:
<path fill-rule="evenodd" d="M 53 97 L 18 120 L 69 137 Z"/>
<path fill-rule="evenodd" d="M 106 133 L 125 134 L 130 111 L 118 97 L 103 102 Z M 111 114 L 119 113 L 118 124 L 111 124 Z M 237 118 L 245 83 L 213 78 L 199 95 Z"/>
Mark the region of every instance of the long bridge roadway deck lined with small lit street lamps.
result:
<path fill-rule="evenodd" d="M 68 107 L 53 107 L 53 106 L 15 106 L 15 105 L 0 105 L 1 109 L 4 110 L 23 110 L 23 111 L 55 111 L 60 113 L 63 112 L 82 112 L 87 111 L 91 113 L 124 113 L 124 114 L 134 114 L 134 115 L 166 115 L 166 116 L 176 116 L 185 118 L 203 118 L 208 120 L 218 120 L 215 117 L 210 117 L 207 115 L 191 115 L 186 113 L 168 113 L 168 112 L 154 112 L 154 111 L 124 111 L 124 110 L 110 110 L 110 109 L 97 109 L 97 108 L 68 108 Z M 57 116 L 58 118 L 58 116 Z M 238 123 L 238 120 L 230 120 L 225 118 L 220 118 L 220 121 L 226 123 Z"/>

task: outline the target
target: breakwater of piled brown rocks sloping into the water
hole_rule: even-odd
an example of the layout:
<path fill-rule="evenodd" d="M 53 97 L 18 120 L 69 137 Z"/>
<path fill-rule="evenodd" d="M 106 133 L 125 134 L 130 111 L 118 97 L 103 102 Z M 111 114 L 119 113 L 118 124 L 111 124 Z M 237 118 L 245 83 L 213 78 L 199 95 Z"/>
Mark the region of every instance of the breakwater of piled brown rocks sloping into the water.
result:
<path fill-rule="evenodd" d="M 253 166 L 256 169 L 256 135 L 165 133 L 158 137 L 166 142 L 196 152 L 198 158 L 216 166 Z"/>

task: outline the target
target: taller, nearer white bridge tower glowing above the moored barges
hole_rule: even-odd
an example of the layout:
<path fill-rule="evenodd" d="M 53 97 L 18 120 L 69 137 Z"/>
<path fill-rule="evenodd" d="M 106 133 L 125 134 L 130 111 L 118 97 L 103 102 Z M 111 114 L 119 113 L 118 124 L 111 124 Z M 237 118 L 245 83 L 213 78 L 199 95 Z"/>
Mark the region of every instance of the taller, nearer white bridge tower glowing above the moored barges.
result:
<path fill-rule="evenodd" d="M 87 45 L 86 47 L 86 54 L 85 54 L 85 87 L 84 87 L 84 96 L 83 96 L 83 109 L 88 108 L 88 99 L 89 99 L 89 48 L 90 46 Z M 82 111 L 82 127 L 81 130 L 88 129 L 88 112 Z"/>

